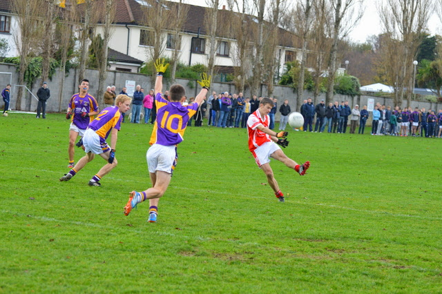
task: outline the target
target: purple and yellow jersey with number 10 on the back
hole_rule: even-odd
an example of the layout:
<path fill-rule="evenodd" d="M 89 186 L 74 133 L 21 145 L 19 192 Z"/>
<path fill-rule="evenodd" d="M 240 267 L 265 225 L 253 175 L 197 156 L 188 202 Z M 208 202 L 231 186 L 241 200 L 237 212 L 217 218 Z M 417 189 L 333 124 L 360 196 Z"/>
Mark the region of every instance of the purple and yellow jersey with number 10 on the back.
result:
<path fill-rule="evenodd" d="M 182 106 L 181 102 L 167 101 L 161 93 L 157 93 L 155 106 L 157 107 L 157 119 L 149 144 L 172 146 L 181 143 L 187 121 L 198 110 L 198 104 Z"/>

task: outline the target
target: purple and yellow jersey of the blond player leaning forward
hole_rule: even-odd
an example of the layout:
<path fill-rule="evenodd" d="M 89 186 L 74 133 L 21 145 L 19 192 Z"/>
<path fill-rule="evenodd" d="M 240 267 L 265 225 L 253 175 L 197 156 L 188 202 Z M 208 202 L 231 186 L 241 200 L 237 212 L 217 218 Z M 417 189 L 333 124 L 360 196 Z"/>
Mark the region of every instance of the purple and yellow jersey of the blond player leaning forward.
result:
<path fill-rule="evenodd" d="M 95 130 L 95 133 L 100 137 L 100 141 L 104 141 L 111 133 L 112 128 L 117 130 L 121 128 L 122 120 L 122 112 L 119 112 L 118 107 L 110 106 L 99 112 L 97 118 L 89 124 L 89 128 Z"/>

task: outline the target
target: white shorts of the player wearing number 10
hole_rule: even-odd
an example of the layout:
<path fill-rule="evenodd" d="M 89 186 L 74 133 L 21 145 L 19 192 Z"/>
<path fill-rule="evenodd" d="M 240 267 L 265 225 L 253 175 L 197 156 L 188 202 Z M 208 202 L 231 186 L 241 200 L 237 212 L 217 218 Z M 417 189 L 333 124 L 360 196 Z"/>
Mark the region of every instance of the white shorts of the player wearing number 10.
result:
<path fill-rule="evenodd" d="M 163 146 L 153 144 L 147 150 L 146 159 L 149 173 L 155 173 L 157 170 L 160 170 L 172 175 L 177 165 L 177 147 L 175 145 Z"/>

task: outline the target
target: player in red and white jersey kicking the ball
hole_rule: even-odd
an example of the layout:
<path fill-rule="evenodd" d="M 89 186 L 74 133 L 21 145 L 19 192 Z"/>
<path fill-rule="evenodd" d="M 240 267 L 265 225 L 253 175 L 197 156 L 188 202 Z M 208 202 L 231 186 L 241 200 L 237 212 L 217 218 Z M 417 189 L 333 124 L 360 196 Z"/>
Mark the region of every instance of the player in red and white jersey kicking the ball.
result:
<path fill-rule="evenodd" d="M 273 108 L 273 101 L 269 98 L 262 98 L 258 110 L 253 112 L 249 119 L 247 119 L 249 150 L 253 157 L 255 157 L 256 164 L 267 176 L 267 182 L 269 182 L 276 197 L 280 202 L 284 202 L 284 194 L 282 194 L 278 182 L 276 182 L 273 176 L 273 170 L 270 167 L 270 157 L 281 161 L 289 168 L 293 168 L 299 175 L 305 175 L 306 170 L 310 167 L 310 161 L 305 161 L 304 164 L 297 164 L 296 161 L 287 157 L 278 146 L 280 145 L 285 148 L 289 145 L 289 141 L 285 139 L 289 133 L 276 133 L 269 129 L 269 112 L 271 108 Z"/>

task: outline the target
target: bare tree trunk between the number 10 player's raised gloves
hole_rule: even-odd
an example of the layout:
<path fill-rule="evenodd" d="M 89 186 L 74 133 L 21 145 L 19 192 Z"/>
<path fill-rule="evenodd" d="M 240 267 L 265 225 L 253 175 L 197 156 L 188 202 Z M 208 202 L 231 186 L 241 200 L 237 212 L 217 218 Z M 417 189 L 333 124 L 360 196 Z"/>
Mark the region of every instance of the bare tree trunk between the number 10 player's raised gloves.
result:
<path fill-rule="evenodd" d="M 172 60 L 171 60 L 171 80 L 175 81 L 175 75 L 177 72 L 177 64 L 178 59 L 180 57 L 180 49 L 181 49 L 181 36 L 180 32 L 182 32 L 182 28 L 184 26 L 184 22 L 186 18 L 184 15 L 187 15 L 189 11 L 189 6 L 184 5 L 183 0 L 180 0 L 177 3 L 172 11 L 172 15 L 176 15 L 176 17 L 171 18 L 171 26 L 173 28 L 173 52 L 172 52 Z"/>

